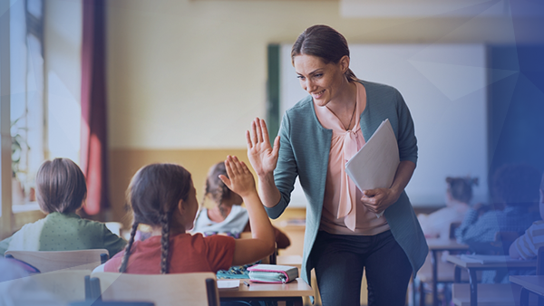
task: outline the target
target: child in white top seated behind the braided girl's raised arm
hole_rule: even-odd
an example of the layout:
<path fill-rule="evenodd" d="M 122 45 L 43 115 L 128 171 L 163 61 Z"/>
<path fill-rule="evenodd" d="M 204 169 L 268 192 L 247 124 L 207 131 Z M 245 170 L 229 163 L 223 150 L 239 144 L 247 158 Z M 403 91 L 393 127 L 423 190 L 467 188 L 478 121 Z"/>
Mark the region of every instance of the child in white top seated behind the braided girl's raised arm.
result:
<path fill-rule="evenodd" d="M 228 177 L 225 163 L 220 162 L 209 169 L 206 179 L 204 202 L 208 196 L 216 203 L 211 209 L 202 208 L 197 214 L 193 233 L 205 236 L 225 233 L 239 238 L 241 232 L 251 232 L 248 210 L 241 206 L 242 197 L 228 189 L 219 175 Z M 285 249 L 291 244 L 286 234 L 274 227 L 277 248 Z"/>

